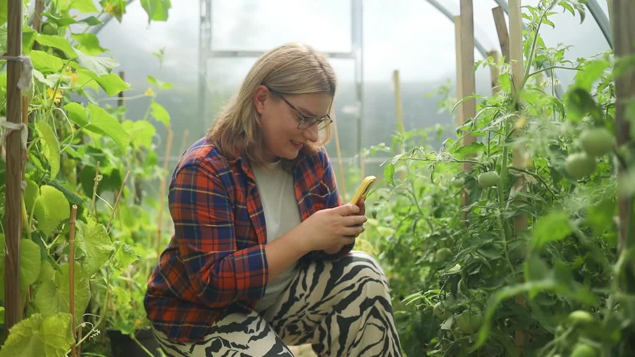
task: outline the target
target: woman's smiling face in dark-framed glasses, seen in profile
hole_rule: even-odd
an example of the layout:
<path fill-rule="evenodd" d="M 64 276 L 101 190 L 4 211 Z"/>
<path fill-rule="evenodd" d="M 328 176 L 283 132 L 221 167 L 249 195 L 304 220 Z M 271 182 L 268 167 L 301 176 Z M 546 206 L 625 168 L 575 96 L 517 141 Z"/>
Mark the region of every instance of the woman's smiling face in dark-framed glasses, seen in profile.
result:
<path fill-rule="evenodd" d="M 262 85 L 258 86 L 254 96 L 264 132 L 265 158 L 271 162 L 278 158 L 293 160 L 303 145 L 317 142 L 317 124 L 304 130 L 298 129 L 302 121 L 300 112 L 306 117 L 324 118 L 333 101 L 331 95 L 323 93 L 283 96 L 288 103 Z"/>

